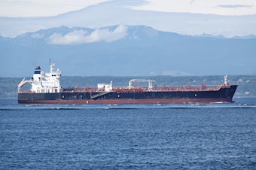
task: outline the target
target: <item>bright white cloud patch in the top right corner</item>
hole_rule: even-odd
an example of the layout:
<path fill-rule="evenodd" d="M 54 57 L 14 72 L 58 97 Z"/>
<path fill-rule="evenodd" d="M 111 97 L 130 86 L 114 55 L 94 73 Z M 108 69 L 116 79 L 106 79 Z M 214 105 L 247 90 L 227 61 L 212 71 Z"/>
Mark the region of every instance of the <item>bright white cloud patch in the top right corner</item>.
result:
<path fill-rule="evenodd" d="M 226 7 L 226 8 L 224 8 Z M 254 0 L 148 0 L 148 4 L 134 7 L 137 10 L 184 12 L 198 14 L 248 15 L 256 14 Z"/>

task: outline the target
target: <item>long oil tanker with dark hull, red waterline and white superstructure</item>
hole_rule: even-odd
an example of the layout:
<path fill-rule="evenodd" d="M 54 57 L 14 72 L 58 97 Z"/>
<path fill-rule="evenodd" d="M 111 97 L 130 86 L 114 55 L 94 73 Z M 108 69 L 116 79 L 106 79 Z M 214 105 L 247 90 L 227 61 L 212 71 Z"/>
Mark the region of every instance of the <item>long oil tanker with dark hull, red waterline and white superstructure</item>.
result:
<path fill-rule="evenodd" d="M 18 103 L 26 104 L 166 104 L 166 103 L 209 103 L 233 102 L 237 85 L 227 83 L 227 75 L 220 86 L 157 87 L 155 80 L 133 79 L 127 87 L 114 87 L 113 82 L 98 83 L 96 87 L 62 88 L 59 83 L 61 72 L 44 73 L 40 66 L 35 68 L 30 80 L 25 78 L 18 85 Z M 147 86 L 137 86 L 138 83 Z M 26 83 L 30 90 L 23 90 Z"/>

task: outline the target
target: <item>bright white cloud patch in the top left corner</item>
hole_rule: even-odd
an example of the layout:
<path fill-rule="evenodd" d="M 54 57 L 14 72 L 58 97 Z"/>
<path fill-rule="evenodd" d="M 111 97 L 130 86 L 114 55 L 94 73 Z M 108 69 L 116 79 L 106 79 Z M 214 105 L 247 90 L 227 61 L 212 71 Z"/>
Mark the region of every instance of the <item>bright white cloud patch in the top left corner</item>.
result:
<path fill-rule="evenodd" d="M 2 0 L 1 17 L 50 17 L 108 0 Z"/>

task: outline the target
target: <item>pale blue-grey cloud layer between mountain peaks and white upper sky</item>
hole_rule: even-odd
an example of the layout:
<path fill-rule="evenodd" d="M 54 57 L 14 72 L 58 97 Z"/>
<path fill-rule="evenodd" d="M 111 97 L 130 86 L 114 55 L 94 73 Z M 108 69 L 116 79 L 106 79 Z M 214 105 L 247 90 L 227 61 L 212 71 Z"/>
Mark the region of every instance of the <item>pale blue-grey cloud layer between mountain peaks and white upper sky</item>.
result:
<path fill-rule="evenodd" d="M 181 35 L 256 35 L 256 14 L 231 16 L 136 9 L 145 3 L 145 0 L 110 0 L 52 17 L 0 17 L 0 35 L 16 37 L 26 32 L 59 26 L 96 29 L 120 24 L 150 26 L 163 32 L 176 32 Z"/>

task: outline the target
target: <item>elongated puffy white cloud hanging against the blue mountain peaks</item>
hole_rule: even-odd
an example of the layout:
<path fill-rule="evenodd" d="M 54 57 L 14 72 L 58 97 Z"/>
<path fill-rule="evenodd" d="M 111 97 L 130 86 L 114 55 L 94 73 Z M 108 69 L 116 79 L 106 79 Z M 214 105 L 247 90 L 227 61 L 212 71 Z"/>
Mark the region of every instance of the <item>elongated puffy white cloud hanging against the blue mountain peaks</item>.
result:
<path fill-rule="evenodd" d="M 84 30 L 75 30 L 73 32 L 69 32 L 66 35 L 61 35 L 58 33 L 53 33 L 47 38 L 47 42 L 49 44 L 84 44 L 84 43 L 93 43 L 99 41 L 117 41 L 121 38 L 124 38 L 127 33 L 127 26 L 117 26 L 116 29 L 96 29 L 88 35 L 88 32 Z"/>

